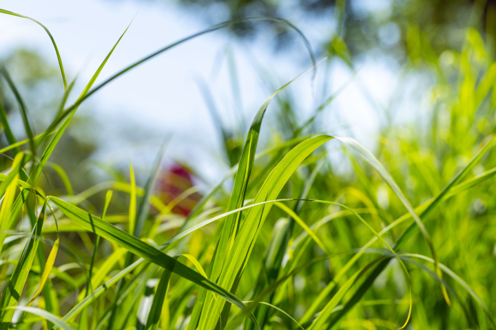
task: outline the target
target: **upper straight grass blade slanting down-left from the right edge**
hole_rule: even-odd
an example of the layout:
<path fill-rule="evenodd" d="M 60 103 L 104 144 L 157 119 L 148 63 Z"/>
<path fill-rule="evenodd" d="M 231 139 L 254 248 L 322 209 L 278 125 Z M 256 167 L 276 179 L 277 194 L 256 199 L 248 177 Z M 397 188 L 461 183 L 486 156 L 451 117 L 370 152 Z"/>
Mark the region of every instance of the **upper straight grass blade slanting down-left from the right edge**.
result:
<path fill-rule="evenodd" d="M 426 219 L 428 214 L 430 214 L 435 209 L 435 207 L 440 203 L 440 201 L 442 201 L 442 199 L 444 199 L 444 197 L 447 197 L 448 193 L 451 192 L 451 190 L 455 190 L 453 188 L 453 185 L 457 184 L 457 182 L 459 182 L 461 179 L 463 179 L 463 177 L 475 166 L 475 164 L 477 164 L 477 162 L 482 158 L 482 156 L 484 154 L 486 154 L 486 152 L 488 152 L 490 150 L 490 148 L 493 147 L 493 145 L 495 143 L 495 139 L 496 139 L 496 136 L 495 137 L 489 136 L 489 137 L 486 137 L 486 139 L 484 139 L 482 141 L 481 144 L 484 144 L 484 142 L 486 140 L 490 140 L 487 144 L 485 144 L 484 147 L 482 147 L 482 148 L 479 147 L 480 151 L 471 159 L 470 162 L 468 162 L 468 164 L 462 170 L 459 171 L 459 173 L 457 173 L 457 175 L 455 175 L 455 177 L 453 177 L 453 179 L 433 199 L 433 202 L 431 202 L 428 206 L 426 206 L 424 211 L 422 211 L 420 213 L 420 219 L 422 219 L 422 220 Z M 462 185 L 460 185 L 460 186 L 462 186 Z M 431 205 L 433 205 L 433 206 L 429 207 Z M 407 241 L 409 241 L 409 239 L 411 238 L 411 236 L 413 236 L 413 234 L 415 233 L 416 230 L 417 230 L 417 225 L 415 223 L 413 223 L 408 229 L 406 229 L 403 232 L 403 234 L 400 236 L 400 238 L 397 239 L 395 245 L 393 245 L 393 249 L 394 250 L 400 250 L 402 248 L 402 246 Z M 346 315 L 347 312 L 356 303 L 358 303 L 358 301 L 360 301 L 360 299 L 365 294 L 365 292 L 369 289 L 369 287 L 371 287 L 373 281 L 375 281 L 375 278 L 377 278 L 379 276 L 379 274 L 382 273 L 382 271 L 384 270 L 384 268 L 386 268 L 386 265 L 388 265 L 388 263 L 389 263 L 389 260 L 382 261 L 382 263 L 380 263 L 377 267 L 375 267 L 375 270 L 368 276 L 368 278 L 366 278 L 366 281 L 362 284 L 360 289 L 357 292 L 355 292 L 355 294 L 348 301 L 348 303 L 346 305 L 344 305 L 344 308 L 342 309 L 342 311 L 340 311 L 340 313 L 338 314 L 337 318 L 335 318 L 335 320 L 339 320 L 340 318 L 342 318 L 342 316 Z"/>

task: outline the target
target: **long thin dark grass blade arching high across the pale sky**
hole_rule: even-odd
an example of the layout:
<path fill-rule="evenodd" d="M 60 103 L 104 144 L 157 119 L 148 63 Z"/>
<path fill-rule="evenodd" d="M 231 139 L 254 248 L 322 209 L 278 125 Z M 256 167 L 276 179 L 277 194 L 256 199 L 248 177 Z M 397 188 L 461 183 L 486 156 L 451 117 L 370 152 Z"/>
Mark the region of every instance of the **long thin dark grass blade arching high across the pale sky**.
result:
<path fill-rule="evenodd" d="M 200 31 L 200 32 L 197 32 L 197 33 L 192 34 L 190 36 L 187 36 L 183 39 L 180 39 L 179 41 L 176 41 L 175 43 L 167 45 L 167 46 L 163 47 L 161 50 L 158 50 L 158 51 L 150 54 L 149 56 L 146 56 L 145 58 L 142 58 L 141 60 L 136 61 L 132 65 L 125 67 L 120 72 L 117 72 L 116 74 L 114 74 L 114 76 L 111 76 L 110 78 L 105 80 L 100 85 L 94 87 L 94 89 L 92 89 L 91 91 L 88 91 L 87 94 L 85 94 L 83 97 L 79 98 L 79 100 L 77 100 L 74 104 L 72 104 L 72 106 L 68 107 L 68 109 L 65 109 L 63 111 L 62 115 L 59 116 L 59 118 L 57 118 L 54 122 L 52 122 L 52 124 L 47 129 L 47 131 L 52 131 L 53 129 L 55 129 L 55 127 L 58 126 L 65 117 L 67 117 L 74 109 L 77 109 L 77 107 L 79 107 L 79 104 L 81 104 L 84 100 L 86 100 L 87 98 L 92 96 L 96 91 L 98 91 L 99 89 L 101 89 L 102 87 L 104 87 L 105 85 L 110 83 L 112 80 L 118 78 L 119 76 L 122 76 L 123 74 L 130 71 L 131 69 L 134 69 L 134 67 L 137 67 L 138 65 L 141 65 L 142 63 L 148 61 L 150 58 L 154 58 L 155 56 L 157 56 L 157 55 L 159 55 L 159 54 L 161 54 L 161 53 L 163 53 L 163 52 L 165 52 L 165 51 L 167 51 L 167 50 L 169 50 L 169 49 L 171 49 L 177 45 L 180 45 L 181 43 L 185 43 L 186 41 L 192 40 L 192 39 L 196 38 L 197 36 L 201 36 L 201 35 L 207 34 L 209 32 L 214 32 L 216 30 L 226 28 L 229 25 L 235 25 L 238 23 L 243 23 L 245 21 L 269 21 L 269 22 L 283 23 L 285 25 L 288 25 L 291 29 L 295 30 L 302 38 L 304 45 L 310 54 L 312 64 L 315 67 L 315 65 L 316 65 L 315 55 L 313 54 L 313 50 L 311 50 L 311 46 L 310 46 L 310 43 L 309 43 L 307 37 L 305 37 L 304 34 L 298 28 L 296 28 L 295 25 L 291 24 L 289 21 L 287 21 L 285 19 L 278 19 L 275 17 L 245 17 L 242 19 L 234 19 L 231 21 L 225 21 L 223 23 L 218 23 L 216 25 L 213 25 L 210 28 L 208 28 L 207 30 Z M 314 69 L 314 72 L 313 72 L 314 76 L 315 76 L 315 72 L 316 71 Z"/>

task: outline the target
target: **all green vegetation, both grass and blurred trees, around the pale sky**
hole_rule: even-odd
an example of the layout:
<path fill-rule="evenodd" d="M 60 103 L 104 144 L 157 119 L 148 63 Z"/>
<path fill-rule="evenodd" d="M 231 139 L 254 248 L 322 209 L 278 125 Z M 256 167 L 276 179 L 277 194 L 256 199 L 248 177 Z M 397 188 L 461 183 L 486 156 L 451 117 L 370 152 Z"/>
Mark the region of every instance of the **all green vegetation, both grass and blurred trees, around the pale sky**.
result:
<path fill-rule="evenodd" d="M 118 39 L 82 91 L 56 36 L 0 10 L 45 28 L 59 61 L 50 67 L 19 50 L 0 65 L 0 330 L 494 329 L 493 1 L 394 1 L 383 16 L 360 15 L 357 1 L 301 1 L 291 9 L 309 20 L 334 17 L 319 45 L 273 18 L 287 10 L 282 2 L 184 5 L 224 6 L 227 23 L 97 83 Z M 363 143 L 374 147 L 330 134 L 343 123 L 323 114 L 342 89 L 304 116 L 283 91 L 293 80 L 269 83 L 273 94 L 248 123 L 240 115 L 227 124 L 200 83 L 218 130 L 204 138 L 220 139 L 220 162 L 231 168 L 218 184 L 205 189 L 203 164 L 165 162 L 168 135 L 144 173 L 132 162 L 92 162 L 102 142 L 87 132 L 105 124 L 74 117 L 80 105 L 216 30 L 275 32 L 278 52 L 298 40 L 307 76 L 330 75 L 331 61 L 356 71 L 364 54 L 392 54 L 404 79 L 391 103 L 363 91 L 380 118 L 373 143 Z M 424 109 L 402 120 L 394 98 L 412 79 L 422 89 L 410 97 L 422 97 Z M 92 166 L 104 174 L 87 175 Z"/>

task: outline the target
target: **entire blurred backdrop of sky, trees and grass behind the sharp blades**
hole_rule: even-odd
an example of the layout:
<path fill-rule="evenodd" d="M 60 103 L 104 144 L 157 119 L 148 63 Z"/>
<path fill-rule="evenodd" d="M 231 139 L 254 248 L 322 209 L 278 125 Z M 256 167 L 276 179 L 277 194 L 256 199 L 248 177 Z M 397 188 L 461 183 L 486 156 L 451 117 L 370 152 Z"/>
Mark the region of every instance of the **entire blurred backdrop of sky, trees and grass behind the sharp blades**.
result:
<path fill-rule="evenodd" d="M 287 19 L 307 38 L 316 60 L 324 61 L 315 73 L 298 78 L 271 102 L 258 151 L 317 133 L 354 137 L 386 165 L 413 206 L 440 192 L 484 144 L 484 138 L 495 133 L 494 0 L 0 0 L 0 8 L 37 19 L 50 29 L 65 72 L 69 80 L 75 79 L 68 104 L 78 98 L 77 91 L 85 87 L 128 25 L 96 84 L 213 24 L 258 16 Z M 63 97 L 50 39 L 33 22 L 3 15 L 0 62 L 14 77 L 34 133 L 42 133 L 55 118 Z M 85 101 L 56 146 L 40 185 L 51 195 L 68 192 L 61 176 L 54 175 L 59 171 L 53 164 L 58 164 L 70 178 L 74 193 L 103 187 L 81 206 L 96 212 L 105 195 L 105 186 L 99 184 L 129 181 L 131 161 L 138 186 L 143 186 L 165 145 L 154 192 L 165 202 L 187 192 L 188 198 L 173 210 L 178 219 L 184 219 L 238 162 L 249 125 L 267 97 L 311 67 L 302 36 L 281 23 L 244 21 L 192 39 L 114 80 Z M 25 138 L 17 102 L 4 80 L 0 80 L 0 100 L 17 138 Z M 0 144 L 8 145 L 3 135 Z M 283 151 L 289 149 L 257 160 L 247 199 L 254 197 Z M 320 172 L 316 170 L 309 197 L 373 209 L 375 213 L 367 211 L 370 214 L 364 218 L 375 221 L 378 231 L 406 212 L 377 173 L 337 143 L 310 157 L 304 163 L 307 167 L 297 171 L 281 195 L 300 195 L 318 157 L 327 162 Z M 3 166 L 1 162 L 10 161 L 0 159 Z M 470 174 L 485 173 L 494 169 L 494 164 L 493 154 L 485 156 Z M 460 193 L 431 216 L 437 221 L 426 225 L 440 260 L 473 286 L 492 314 L 496 312 L 494 188 L 494 180 L 488 179 L 470 192 Z M 232 180 L 225 181 L 208 206 L 225 208 L 231 190 Z M 129 196 L 119 192 L 114 198 L 112 212 L 125 214 Z M 314 221 L 328 211 L 305 206 L 302 217 Z M 285 216 L 274 213 L 256 245 L 255 252 L 260 255 L 269 244 L 271 228 Z M 150 219 L 155 215 L 152 210 Z M 178 228 L 171 223 L 171 228 Z M 324 242 L 329 250 L 360 248 L 371 236 L 351 221 L 335 223 L 336 228 L 320 231 L 329 238 Z M 159 236 L 165 241 L 173 235 L 167 223 L 162 226 Z M 400 229 L 404 228 L 388 234 L 389 242 L 397 239 Z M 209 234 L 198 234 L 196 239 L 205 243 Z M 63 237 L 62 243 L 76 250 L 90 246 L 91 240 L 72 233 Z M 185 246 L 187 243 L 180 248 Z M 196 255 L 201 254 L 200 246 L 196 246 Z M 110 245 L 101 250 L 103 258 L 110 254 Z M 405 251 L 430 255 L 420 235 Z M 313 249 L 304 256 L 311 259 L 320 254 Z M 240 296 L 247 296 L 245 287 L 256 283 L 259 263 L 250 259 Z M 326 266 L 318 268 L 322 278 L 296 278 L 300 300 L 289 307 L 282 303 L 291 315 L 302 318 L 330 283 Z M 464 303 L 449 309 L 435 276 L 427 273 L 417 268 L 412 272 L 415 314 L 410 327 L 491 329 L 485 312 L 466 292 L 460 294 Z M 391 266 L 383 275 L 374 282 L 373 294 L 366 297 L 403 299 L 408 287 L 400 266 Z M 363 314 L 360 310 L 353 316 L 391 320 L 394 328 L 405 318 L 404 300 L 400 303 L 387 308 L 364 307 Z M 464 318 L 462 312 L 471 317 Z M 282 323 L 291 324 L 288 320 Z M 291 327 L 275 325 L 273 329 Z"/>

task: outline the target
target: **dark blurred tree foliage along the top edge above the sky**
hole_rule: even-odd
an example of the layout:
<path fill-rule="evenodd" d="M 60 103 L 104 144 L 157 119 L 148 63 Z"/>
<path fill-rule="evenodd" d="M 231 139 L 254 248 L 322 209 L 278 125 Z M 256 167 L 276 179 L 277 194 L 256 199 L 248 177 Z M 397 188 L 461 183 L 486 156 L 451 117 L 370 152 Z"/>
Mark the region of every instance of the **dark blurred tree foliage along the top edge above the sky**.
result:
<path fill-rule="evenodd" d="M 327 43 L 318 45 L 324 53 L 333 53 L 335 36 L 341 36 L 353 56 L 380 48 L 404 58 L 411 25 L 426 32 L 438 52 L 459 49 L 464 41 L 463 29 L 468 25 L 487 32 L 491 39 L 496 36 L 496 0 L 185 0 L 178 3 L 211 24 L 254 16 L 288 18 L 294 12 L 302 14 L 307 22 L 329 17 L 333 19 L 334 30 L 329 32 Z M 280 24 L 244 21 L 229 29 L 243 39 L 252 39 L 262 30 L 267 34 L 269 29 L 277 36 L 276 49 L 296 38 Z"/>

